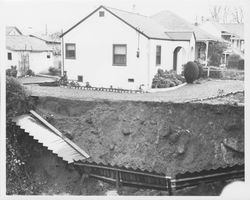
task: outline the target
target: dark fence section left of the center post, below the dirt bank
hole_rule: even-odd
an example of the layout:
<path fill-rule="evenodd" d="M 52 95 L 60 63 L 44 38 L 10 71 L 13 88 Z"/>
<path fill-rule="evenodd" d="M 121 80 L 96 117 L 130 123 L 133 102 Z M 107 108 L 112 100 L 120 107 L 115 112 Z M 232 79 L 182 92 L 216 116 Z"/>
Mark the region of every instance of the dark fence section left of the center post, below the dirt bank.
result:
<path fill-rule="evenodd" d="M 81 174 L 86 173 L 90 177 L 116 184 L 118 191 L 121 186 L 130 186 L 168 191 L 170 195 L 172 193 L 171 177 L 163 173 L 88 161 L 78 161 L 74 165 Z"/>

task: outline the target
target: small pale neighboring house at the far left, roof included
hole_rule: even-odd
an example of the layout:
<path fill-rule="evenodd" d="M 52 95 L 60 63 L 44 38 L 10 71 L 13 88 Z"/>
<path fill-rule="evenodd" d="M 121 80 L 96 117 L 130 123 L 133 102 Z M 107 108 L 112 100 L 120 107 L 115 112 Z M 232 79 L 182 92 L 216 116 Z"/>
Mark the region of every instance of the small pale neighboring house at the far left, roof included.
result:
<path fill-rule="evenodd" d="M 7 66 L 16 66 L 18 76 L 28 69 L 35 73 L 48 72 L 53 66 L 53 50 L 45 42 L 22 35 L 16 27 L 6 28 Z"/>

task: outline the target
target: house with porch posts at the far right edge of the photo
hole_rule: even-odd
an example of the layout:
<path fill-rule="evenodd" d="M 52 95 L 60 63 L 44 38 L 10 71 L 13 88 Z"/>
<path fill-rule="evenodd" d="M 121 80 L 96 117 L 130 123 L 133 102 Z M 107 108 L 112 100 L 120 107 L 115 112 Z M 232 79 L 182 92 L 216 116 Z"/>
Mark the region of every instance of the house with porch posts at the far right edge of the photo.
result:
<path fill-rule="evenodd" d="M 227 63 L 230 54 L 238 54 L 244 58 L 244 24 L 228 23 L 222 24 L 215 21 L 207 20 L 199 25 L 199 27 L 215 37 L 228 42 L 228 48 L 224 52 L 222 63 Z"/>

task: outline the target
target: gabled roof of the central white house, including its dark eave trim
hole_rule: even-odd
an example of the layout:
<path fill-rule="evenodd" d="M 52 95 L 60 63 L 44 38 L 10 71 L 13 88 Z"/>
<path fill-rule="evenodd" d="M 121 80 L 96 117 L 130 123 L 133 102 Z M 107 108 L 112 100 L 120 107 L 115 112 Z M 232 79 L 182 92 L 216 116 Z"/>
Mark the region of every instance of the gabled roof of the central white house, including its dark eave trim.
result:
<path fill-rule="evenodd" d="M 64 32 L 60 37 L 63 37 L 65 34 L 70 32 L 72 29 L 74 29 L 76 26 L 81 24 L 83 21 L 85 21 L 87 18 L 89 18 L 91 15 L 93 15 L 95 12 L 97 12 L 99 9 L 105 9 L 110 14 L 114 15 L 121 21 L 123 21 L 125 24 L 130 26 L 131 28 L 135 29 L 145 37 L 149 39 L 162 39 L 162 40 L 171 40 L 171 41 L 190 41 L 191 35 L 189 34 L 189 38 L 185 35 L 183 36 L 183 33 L 180 33 L 176 35 L 172 34 L 172 37 L 168 34 L 168 29 L 166 29 L 162 24 L 158 23 L 156 20 L 154 20 L 152 17 L 140 15 L 138 13 L 132 13 L 127 12 L 123 10 L 119 10 L 116 8 L 110 8 L 110 7 L 104 7 L 100 6 L 96 10 L 94 10 L 92 13 L 90 13 L 88 16 L 86 16 L 84 19 L 79 21 L 77 24 L 72 26 L 70 29 L 68 29 L 66 32 Z M 171 30 L 170 30 L 171 31 Z M 178 31 L 175 31 L 178 32 Z M 189 31 L 192 32 L 192 31 Z"/>

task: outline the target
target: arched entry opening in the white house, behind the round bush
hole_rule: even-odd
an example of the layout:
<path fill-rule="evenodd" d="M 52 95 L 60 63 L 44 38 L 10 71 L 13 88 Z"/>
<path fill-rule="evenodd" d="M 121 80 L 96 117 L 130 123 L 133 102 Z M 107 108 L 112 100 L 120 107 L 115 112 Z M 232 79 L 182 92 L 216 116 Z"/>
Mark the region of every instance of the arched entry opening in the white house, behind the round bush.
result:
<path fill-rule="evenodd" d="M 180 74 L 182 65 L 185 63 L 185 49 L 183 47 L 176 47 L 173 52 L 173 70 Z"/>

